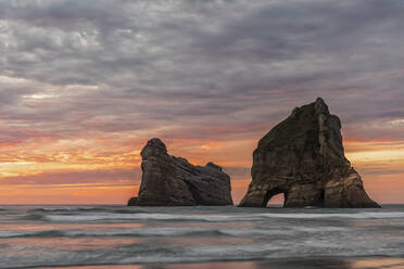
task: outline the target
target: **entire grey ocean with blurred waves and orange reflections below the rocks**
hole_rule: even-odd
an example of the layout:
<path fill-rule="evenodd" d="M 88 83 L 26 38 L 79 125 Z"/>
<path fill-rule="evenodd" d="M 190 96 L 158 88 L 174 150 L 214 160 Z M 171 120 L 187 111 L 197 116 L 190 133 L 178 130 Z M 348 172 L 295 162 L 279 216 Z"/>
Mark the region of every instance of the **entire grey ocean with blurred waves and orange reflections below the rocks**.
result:
<path fill-rule="evenodd" d="M 404 268 L 404 205 L 4 205 L 0 268 Z"/>

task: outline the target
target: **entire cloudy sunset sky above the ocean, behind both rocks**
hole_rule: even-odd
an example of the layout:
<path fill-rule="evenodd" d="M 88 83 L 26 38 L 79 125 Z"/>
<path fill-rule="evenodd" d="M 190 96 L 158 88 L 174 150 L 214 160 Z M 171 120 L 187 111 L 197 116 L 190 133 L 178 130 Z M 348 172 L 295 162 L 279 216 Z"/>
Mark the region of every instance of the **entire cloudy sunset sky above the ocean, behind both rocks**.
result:
<path fill-rule="evenodd" d="M 0 204 L 125 204 L 153 137 L 238 202 L 317 97 L 370 196 L 404 203 L 403 48 L 400 0 L 0 1 Z"/>

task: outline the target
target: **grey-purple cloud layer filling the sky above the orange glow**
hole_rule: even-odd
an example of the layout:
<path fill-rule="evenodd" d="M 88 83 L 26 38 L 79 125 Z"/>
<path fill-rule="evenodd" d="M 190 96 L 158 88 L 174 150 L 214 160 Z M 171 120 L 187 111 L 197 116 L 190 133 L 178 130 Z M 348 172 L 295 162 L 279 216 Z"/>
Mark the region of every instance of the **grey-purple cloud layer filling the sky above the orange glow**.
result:
<path fill-rule="evenodd" d="M 403 118 L 403 29 L 389 0 L 1 1 L 0 119 L 58 137 L 261 136 L 320 95 L 349 133 L 400 140 L 400 121 L 369 123 Z"/>

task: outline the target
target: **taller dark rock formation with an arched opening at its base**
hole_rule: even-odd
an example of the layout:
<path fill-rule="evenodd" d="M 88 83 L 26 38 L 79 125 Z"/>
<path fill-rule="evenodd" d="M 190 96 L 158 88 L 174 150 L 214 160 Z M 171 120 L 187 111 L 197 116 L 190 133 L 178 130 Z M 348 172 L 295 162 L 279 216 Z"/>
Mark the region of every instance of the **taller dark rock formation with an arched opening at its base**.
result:
<path fill-rule="evenodd" d="M 283 193 L 285 207 L 380 207 L 345 158 L 340 129 L 323 99 L 294 108 L 260 140 L 239 206 L 264 207 Z"/>

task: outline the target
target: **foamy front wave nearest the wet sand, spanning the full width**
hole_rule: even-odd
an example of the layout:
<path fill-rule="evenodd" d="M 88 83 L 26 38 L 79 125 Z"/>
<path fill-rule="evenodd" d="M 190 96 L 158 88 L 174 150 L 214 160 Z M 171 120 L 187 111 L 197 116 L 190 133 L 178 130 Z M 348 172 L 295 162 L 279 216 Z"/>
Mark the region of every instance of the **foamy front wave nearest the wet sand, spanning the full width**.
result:
<path fill-rule="evenodd" d="M 46 252 L 41 255 L 28 252 L 22 256 L 8 258 L 0 253 L 2 262 L 0 268 L 38 268 L 38 267 L 72 267 L 72 266 L 97 266 L 97 265 L 139 265 L 139 264 L 184 264 L 203 261 L 229 261 L 229 260 L 256 260 L 281 258 L 336 258 L 336 257 L 375 257 L 375 253 L 368 249 L 355 251 L 354 246 L 336 245 L 319 241 L 310 241 L 303 244 L 282 245 L 273 243 L 254 244 L 227 244 L 227 245 L 150 245 L 128 244 L 117 247 L 93 251 L 74 252 Z M 321 253 L 327 247 L 330 252 Z M 401 257 L 400 249 L 391 251 L 380 248 L 379 256 Z M 102 257 L 102 258 L 101 258 Z M 403 264 L 403 262 L 401 262 Z M 343 264 L 341 264 L 341 267 Z M 113 266 L 111 266 L 113 267 Z"/>

